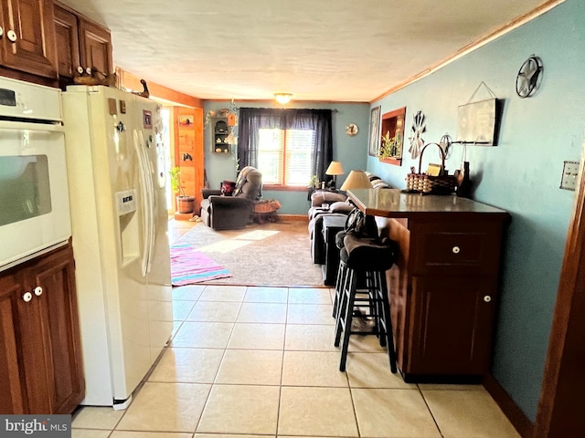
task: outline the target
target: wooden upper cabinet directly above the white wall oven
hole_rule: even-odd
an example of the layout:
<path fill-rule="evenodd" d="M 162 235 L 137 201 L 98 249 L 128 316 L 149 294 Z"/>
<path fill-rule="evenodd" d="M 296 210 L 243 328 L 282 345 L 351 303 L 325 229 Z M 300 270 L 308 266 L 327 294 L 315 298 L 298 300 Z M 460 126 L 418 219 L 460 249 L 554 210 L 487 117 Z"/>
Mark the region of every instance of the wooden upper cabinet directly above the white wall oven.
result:
<path fill-rule="evenodd" d="M 58 78 L 51 0 L 0 0 L 2 66 Z"/>

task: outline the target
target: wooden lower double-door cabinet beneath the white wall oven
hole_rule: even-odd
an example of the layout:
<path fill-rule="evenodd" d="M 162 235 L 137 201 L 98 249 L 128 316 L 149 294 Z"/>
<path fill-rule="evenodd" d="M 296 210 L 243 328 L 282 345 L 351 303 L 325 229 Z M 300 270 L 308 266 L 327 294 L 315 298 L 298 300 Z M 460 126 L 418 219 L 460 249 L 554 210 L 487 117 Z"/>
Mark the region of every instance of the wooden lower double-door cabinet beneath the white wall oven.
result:
<path fill-rule="evenodd" d="M 70 413 L 84 397 L 70 244 L 0 273 L 0 413 Z"/>

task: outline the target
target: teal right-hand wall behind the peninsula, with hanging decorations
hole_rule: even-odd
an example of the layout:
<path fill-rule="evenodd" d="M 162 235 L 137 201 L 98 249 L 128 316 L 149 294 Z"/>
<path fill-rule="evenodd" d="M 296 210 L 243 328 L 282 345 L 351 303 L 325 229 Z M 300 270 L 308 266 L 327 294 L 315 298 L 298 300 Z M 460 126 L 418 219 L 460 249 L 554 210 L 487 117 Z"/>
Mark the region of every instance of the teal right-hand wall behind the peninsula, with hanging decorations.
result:
<path fill-rule="evenodd" d="M 533 422 L 575 194 L 558 186 L 563 162 L 581 159 L 584 40 L 585 2 L 568 0 L 372 104 L 381 104 L 382 113 L 406 106 L 406 137 L 414 112 L 421 110 L 427 121 L 424 141 L 438 142 L 446 132 L 456 137 L 457 108 L 472 98 L 482 81 L 504 100 L 498 146 L 468 146 L 467 161 L 474 199 L 512 216 L 505 237 L 492 372 Z M 533 97 L 520 99 L 516 73 L 532 54 L 542 59 L 544 77 Z M 473 100 L 489 98 L 482 88 Z M 463 146 L 454 145 L 447 161 L 450 172 L 460 167 L 462 155 Z M 437 153 L 427 157 L 425 152 L 425 162 L 437 159 Z M 400 167 L 367 158 L 369 171 L 399 188 L 410 166 L 418 169 L 418 160 L 408 154 Z"/>

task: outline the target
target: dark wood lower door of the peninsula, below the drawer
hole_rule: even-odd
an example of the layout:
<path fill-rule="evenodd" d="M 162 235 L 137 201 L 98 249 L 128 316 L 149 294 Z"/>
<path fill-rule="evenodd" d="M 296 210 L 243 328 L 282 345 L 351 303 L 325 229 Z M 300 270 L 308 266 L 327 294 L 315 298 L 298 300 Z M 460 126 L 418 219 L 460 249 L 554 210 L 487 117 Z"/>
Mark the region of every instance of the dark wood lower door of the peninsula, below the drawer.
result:
<path fill-rule="evenodd" d="M 411 375 L 484 375 L 488 371 L 495 282 L 476 277 L 413 277 Z"/>

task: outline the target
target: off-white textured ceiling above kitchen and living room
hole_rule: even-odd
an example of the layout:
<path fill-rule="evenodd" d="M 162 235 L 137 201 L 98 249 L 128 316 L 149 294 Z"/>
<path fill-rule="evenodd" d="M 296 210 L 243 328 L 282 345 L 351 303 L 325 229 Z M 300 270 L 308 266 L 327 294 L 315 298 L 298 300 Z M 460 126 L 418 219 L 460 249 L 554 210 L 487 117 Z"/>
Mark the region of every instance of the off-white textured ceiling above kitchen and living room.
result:
<path fill-rule="evenodd" d="M 550 3 L 61 1 L 110 28 L 116 66 L 170 89 L 200 99 L 272 99 L 282 91 L 354 102 L 378 98 Z"/>

